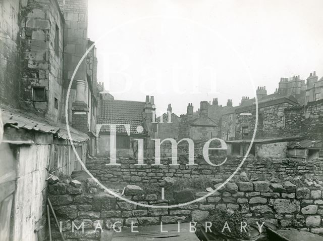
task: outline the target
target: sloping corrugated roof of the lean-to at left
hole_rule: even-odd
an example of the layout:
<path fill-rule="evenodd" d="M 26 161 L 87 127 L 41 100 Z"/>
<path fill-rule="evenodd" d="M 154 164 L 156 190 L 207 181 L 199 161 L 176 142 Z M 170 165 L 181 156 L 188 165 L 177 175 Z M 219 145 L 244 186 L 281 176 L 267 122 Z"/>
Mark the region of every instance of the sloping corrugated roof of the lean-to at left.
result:
<path fill-rule="evenodd" d="M 44 118 L 33 116 L 14 109 L 1 108 L 3 125 L 10 125 L 14 128 L 35 130 L 43 133 L 51 133 L 57 138 L 70 140 L 66 125 L 62 123 L 49 123 Z M 88 135 L 70 127 L 73 141 L 83 142 L 89 139 Z"/>

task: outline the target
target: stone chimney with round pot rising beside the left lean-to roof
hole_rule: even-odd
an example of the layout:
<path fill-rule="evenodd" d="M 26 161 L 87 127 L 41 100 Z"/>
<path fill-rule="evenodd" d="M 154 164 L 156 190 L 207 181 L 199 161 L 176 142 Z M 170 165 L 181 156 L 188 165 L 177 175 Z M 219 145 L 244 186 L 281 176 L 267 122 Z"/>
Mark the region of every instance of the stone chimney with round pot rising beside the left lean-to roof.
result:
<path fill-rule="evenodd" d="M 72 105 L 72 127 L 87 134 L 89 108 L 85 103 L 85 81 L 76 80 L 76 101 Z"/>

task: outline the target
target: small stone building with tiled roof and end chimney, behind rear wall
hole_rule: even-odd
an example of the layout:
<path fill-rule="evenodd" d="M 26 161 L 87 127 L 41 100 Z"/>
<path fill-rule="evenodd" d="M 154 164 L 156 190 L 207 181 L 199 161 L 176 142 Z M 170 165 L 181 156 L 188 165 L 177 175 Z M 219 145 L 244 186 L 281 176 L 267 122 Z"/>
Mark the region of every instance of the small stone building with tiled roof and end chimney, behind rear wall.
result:
<path fill-rule="evenodd" d="M 156 123 L 153 123 L 155 115 L 154 98 L 146 96 L 145 102 L 105 100 L 106 93 L 100 95 L 99 115 L 97 119 L 97 155 L 110 156 L 111 144 L 116 149 L 117 157 L 137 157 L 138 142 L 136 138 L 144 140 L 144 155 L 153 156 Z M 111 142 L 111 124 L 130 125 L 130 132 L 125 126 L 117 126 L 116 142 Z M 139 127 L 138 127 L 139 126 Z"/>

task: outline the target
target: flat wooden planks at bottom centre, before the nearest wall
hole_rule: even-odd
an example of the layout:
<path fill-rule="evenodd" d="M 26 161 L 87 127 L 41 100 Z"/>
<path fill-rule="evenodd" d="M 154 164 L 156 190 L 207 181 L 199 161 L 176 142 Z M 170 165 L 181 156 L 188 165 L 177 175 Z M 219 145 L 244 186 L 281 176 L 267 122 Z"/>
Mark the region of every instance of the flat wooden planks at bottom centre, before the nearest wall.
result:
<path fill-rule="evenodd" d="M 172 240 L 172 241 L 193 241 L 199 240 L 194 232 L 189 232 L 189 223 L 181 223 L 180 230 L 178 224 L 164 224 L 163 231 L 160 232 L 160 225 L 136 227 L 131 232 L 131 228 L 123 228 L 121 232 L 114 232 L 112 241 L 141 241 L 141 240 Z M 166 232 L 167 231 L 167 232 Z"/>

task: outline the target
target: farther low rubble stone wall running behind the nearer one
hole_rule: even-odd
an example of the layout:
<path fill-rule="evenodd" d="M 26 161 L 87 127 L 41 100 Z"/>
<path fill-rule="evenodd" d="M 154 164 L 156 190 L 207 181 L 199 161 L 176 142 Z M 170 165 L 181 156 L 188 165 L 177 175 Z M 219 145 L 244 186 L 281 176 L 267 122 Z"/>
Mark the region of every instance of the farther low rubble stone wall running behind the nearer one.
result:
<path fill-rule="evenodd" d="M 214 163 L 221 163 L 224 158 L 217 158 Z M 178 166 L 170 166 L 171 158 L 161 159 L 163 166 L 151 166 L 154 160 L 144 160 L 147 165 L 139 166 L 137 160 L 122 159 L 117 160 L 120 166 L 106 166 L 110 160 L 105 158 L 88 159 L 86 166 L 88 170 L 100 181 L 118 181 L 127 183 L 148 183 L 160 182 L 164 177 L 208 177 L 223 178 L 231 175 L 240 162 L 241 158 L 228 157 L 222 166 L 210 166 L 203 158 L 195 158 L 196 166 L 186 166 L 186 158 L 178 158 Z M 303 159 L 271 159 L 271 158 L 247 158 L 239 172 L 246 172 L 250 177 L 272 177 L 285 178 L 288 176 L 305 175 L 309 177 L 323 176 L 322 159 L 304 161 Z"/>

